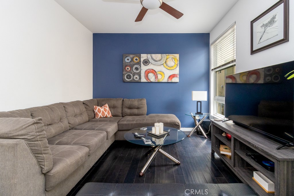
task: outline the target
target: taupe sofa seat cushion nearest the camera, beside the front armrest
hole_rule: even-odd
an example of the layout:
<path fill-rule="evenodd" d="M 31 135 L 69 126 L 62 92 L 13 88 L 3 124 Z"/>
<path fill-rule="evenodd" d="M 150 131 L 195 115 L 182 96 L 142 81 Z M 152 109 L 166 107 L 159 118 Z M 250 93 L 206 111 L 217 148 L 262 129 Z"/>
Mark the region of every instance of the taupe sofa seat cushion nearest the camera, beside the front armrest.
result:
<path fill-rule="evenodd" d="M 51 190 L 66 179 L 88 158 L 89 149 L 85 146 L 49 145 L 53 167 L 45 173 L 45 189 Z"/>

